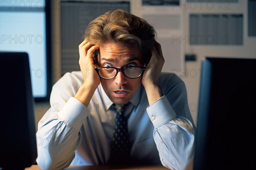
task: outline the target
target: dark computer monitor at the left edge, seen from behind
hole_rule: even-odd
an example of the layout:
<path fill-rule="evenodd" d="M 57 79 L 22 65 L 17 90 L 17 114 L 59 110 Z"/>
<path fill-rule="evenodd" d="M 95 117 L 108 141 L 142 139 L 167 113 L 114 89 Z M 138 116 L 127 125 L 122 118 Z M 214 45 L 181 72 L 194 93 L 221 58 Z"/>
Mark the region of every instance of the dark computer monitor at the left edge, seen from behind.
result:
<path fill-rule="evenodd" d="M 37 158 L 28 54 L 0 52 L 0 79 L 0 170 L 23 170 Z"/>

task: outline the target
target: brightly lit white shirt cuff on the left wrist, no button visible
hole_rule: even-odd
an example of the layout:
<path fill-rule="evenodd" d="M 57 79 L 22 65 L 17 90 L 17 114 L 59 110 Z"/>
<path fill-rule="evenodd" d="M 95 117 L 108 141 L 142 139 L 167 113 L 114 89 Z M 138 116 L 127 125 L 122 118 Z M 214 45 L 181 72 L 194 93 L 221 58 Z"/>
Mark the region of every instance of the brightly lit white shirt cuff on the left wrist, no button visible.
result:
<path fill-rule="evenodd" d="M 63 119 L 72 127 L 80 130 L 83 120 L 88 116 L 88 109 L 84 104 L 74 97 L 70 97 L 61 111 L 57 114 L 59 119 Z"/>

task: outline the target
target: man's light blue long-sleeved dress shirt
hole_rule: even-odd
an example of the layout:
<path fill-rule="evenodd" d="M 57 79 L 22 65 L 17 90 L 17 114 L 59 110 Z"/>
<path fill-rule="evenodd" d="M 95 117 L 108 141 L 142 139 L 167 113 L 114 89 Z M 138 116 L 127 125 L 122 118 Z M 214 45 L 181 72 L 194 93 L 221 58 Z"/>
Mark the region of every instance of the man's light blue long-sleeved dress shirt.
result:
<path fill-rule="evenodd" d="M 73 71 L 52 87 L 52 107 L 38 123 L 36 134 L 36 161 L 41 169 L 106 164 L 110 157 L 113 102 L 100 84 L 88 107 L 84 106 L 73 97 L 82 82 L 81 71 Z M 194 155 L 195 134 L 186 87 L 171 73 L 161 73 L 159 86 L 163 96 L 151 106 L 141 85 L 125 110 L 131 161 L 185 169 Z"/>

